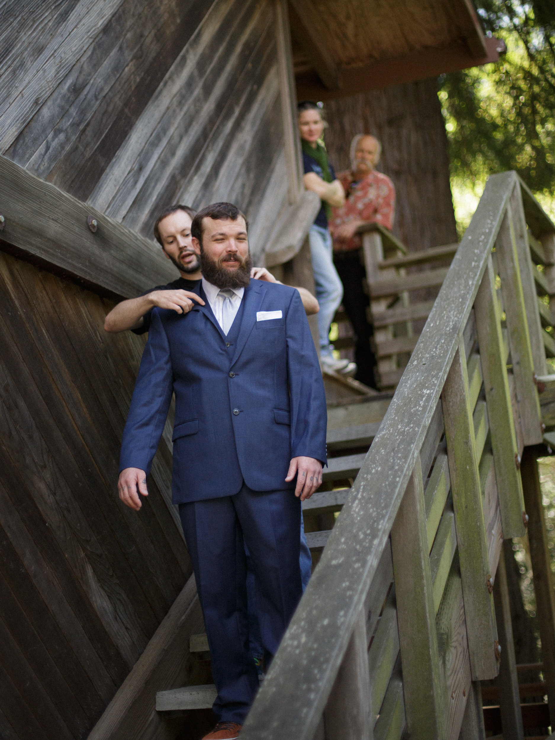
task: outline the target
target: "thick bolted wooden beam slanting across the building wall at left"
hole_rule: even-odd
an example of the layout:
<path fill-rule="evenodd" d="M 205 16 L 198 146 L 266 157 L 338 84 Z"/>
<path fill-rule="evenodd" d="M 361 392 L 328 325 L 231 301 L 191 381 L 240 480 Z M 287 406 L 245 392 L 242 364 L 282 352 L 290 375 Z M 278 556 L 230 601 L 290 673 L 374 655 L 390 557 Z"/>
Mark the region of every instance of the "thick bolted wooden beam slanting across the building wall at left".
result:
<path fill-rule="evenodd" d="M 0 214 L 0 249 L 104 295 L 131 298 L 175 280 L 175 268 L 154 242 L 5 157 Z M 87 226 L 89 217 L 95 232 Z"/>

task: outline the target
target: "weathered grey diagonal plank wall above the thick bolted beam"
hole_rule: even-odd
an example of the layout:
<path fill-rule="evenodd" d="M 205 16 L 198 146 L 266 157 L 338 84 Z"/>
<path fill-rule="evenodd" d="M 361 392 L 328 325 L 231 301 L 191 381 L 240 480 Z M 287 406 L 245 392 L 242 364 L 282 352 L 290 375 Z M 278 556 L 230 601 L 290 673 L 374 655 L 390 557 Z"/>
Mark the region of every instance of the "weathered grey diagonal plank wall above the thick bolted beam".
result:
<path fill-rule="evenodd" d="M 148 238 L 171 203 L 232 201 L 256 258 L 300 192 L 283 10 L 7 0 L 0 153 Z"/>

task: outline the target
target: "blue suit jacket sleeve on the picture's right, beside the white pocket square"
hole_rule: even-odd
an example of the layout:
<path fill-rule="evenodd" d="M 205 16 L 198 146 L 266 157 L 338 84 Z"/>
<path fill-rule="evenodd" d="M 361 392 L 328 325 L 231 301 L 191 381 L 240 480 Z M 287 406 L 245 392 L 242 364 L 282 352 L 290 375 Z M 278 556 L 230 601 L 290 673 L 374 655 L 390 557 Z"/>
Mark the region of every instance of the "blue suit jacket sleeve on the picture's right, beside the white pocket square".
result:
<path fill-rule="evenodd" d="M 297 291 L 286 314 L 291 456 L 326 465 L 326 394 L 309 322 Z"/>

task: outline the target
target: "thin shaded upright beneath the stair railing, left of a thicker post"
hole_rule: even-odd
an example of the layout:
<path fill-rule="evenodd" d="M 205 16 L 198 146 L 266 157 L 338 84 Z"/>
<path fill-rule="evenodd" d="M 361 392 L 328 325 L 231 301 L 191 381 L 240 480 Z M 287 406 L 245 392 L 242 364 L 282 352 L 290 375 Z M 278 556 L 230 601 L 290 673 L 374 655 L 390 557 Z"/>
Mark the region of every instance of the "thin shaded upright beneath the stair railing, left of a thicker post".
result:
<path fill-rule="evenodd" d="M 520 709 L 517 660 L 514 656 L 511 605 L 509 603 L 505 554 L 503 551 L 495 575 L 494 602 L 499 645 L 501 645 L 497 690 L 499 692 L 503 740 L 523 740 L 524 728 L 522 726 L 522 710 Z"/>

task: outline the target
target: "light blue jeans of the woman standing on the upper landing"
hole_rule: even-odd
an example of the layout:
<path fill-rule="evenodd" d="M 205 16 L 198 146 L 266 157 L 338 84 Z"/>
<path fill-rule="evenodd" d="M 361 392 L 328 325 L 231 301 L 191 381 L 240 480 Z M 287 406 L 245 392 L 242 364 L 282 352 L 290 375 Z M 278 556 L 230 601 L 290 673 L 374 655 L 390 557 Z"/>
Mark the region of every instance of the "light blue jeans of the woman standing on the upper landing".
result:
<path fill-rule="evenodd" d="M 343 285 L 334 266 L 332 235 L 321 226 L 310 227 L 310 255 L 316 286 L 316 299 L 320 304 L 317 314 L 320 353 L 330 354 L 329 325 L 343 298 Z"/>

